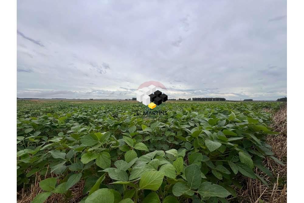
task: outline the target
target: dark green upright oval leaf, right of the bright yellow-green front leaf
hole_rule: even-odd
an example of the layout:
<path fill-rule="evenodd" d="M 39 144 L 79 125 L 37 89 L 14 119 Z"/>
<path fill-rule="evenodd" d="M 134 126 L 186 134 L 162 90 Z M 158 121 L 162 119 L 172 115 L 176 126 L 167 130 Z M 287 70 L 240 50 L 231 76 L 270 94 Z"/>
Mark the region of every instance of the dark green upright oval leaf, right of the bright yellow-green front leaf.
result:
<path fill-rule="evenodd" d="M 191 189 L 199 188 L 199 185 L 202 181 L 202 174 L 201 169 L 198 165 L 192 164 L 185 168 L 184 174 L 188 181 L 188 186 Z"/>

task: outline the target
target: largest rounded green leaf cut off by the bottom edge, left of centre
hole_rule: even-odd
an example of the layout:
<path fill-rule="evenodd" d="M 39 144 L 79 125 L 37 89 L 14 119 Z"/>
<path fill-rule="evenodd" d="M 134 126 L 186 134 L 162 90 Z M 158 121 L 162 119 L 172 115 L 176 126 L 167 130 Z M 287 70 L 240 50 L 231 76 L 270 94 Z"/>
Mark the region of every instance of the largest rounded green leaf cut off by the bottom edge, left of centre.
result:
<path fill-rule="evenodd" d="M 100 202 L 114 202 L 114 194 L 111 190 L 107 188 L 102 188 L 93 192 L 88 198 L 85 200 L 85 203 L 100 203 Z"/>

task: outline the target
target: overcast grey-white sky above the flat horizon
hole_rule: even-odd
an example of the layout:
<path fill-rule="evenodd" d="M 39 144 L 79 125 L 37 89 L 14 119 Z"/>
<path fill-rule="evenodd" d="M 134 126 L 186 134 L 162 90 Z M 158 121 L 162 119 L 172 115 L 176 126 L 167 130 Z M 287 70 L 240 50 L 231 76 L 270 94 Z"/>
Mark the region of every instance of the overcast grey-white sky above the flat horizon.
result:
<path fill-rule="evenodd" d="M 286 1 L 17 1 L 17 97 L 287 96 Z M 161 90 L 161 89 L 160 89 Z"/>

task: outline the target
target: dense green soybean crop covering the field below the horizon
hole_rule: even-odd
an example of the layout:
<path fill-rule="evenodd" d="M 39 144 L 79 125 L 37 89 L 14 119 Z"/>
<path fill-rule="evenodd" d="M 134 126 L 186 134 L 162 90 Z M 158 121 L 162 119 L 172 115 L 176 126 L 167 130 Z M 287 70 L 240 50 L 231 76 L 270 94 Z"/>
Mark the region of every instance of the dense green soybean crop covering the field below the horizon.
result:
<path fill-rule="evenodd" d="M 282 104 L 18 100 L 18 201 L 269 202 L 248 185 L 286 191 Z"/>

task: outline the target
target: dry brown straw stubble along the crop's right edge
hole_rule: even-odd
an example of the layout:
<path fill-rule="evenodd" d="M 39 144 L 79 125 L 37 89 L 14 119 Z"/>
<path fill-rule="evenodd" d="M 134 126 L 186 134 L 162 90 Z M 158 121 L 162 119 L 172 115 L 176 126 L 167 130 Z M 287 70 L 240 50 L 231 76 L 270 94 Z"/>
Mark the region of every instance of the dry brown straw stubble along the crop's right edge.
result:
<path fill-rule="evenodd" d="M 264 108 L 264 111 L 271 112 L 271 109 Z M 285 166 L 281 166 L 272 159 L 266 158 L 264 166 L 273 173 L 273 179 L 269 178 L 264 172 L 256 169 L 256 173 L 263 177 L 268 183 L 267 187 L 260 180 L 241 178 L 246 187 L 237 190 L 238 198 L 241 202 L 287 202 L 287 103 L 274 112 L 271 128 L 280 132 L 278 135 L 268 135 L 266 142 L 272 146 L 274 156 L 281 160 Z"/>

